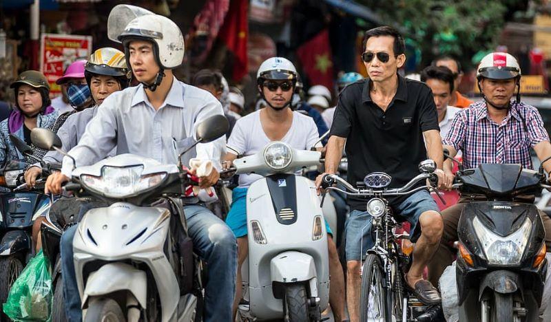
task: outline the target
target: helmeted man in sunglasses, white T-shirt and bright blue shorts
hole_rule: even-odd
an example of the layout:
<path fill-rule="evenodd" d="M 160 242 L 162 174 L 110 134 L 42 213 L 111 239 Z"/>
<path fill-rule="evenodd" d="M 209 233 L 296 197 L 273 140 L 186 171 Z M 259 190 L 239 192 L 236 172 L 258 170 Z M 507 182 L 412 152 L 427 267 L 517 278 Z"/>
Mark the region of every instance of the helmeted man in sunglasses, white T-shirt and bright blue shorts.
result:
<path fill-rule="evenodd" d="M 258 92 L 267 107 L 240 118 L 228 139 L 228 153 L 224 167 L 229 168 L 237 154 L 252 155 L 262 151 L 273 141 L 282 141 L 294 149 L 307 150 L 318 142 L 320 136 L 315 122 L 309 116 L 290 108 L 298 74 L 291 61 L 273 57 L 264 61 L 257 74 Z M 320 147 L 318 147 L 320 148 Z M 226 223 L 236 235 L 238 242 L 238 272 L 249 252 L 247 239 L 247 189 L 260 175 L 240 175 L 239 186 L 233 189 L 231 209 Z M 344 315 L 344 275 L 337 254 L 337 247 L 331 238 L 331 229 L 326 224 L 329 248 L 329 274 L 331 275 L 329 303 L 335 321 L 346 319 Z M 236 301 L 233 314 L 241 299 L 241 275 L 237 275 Z"/>

